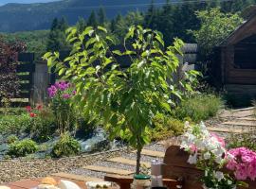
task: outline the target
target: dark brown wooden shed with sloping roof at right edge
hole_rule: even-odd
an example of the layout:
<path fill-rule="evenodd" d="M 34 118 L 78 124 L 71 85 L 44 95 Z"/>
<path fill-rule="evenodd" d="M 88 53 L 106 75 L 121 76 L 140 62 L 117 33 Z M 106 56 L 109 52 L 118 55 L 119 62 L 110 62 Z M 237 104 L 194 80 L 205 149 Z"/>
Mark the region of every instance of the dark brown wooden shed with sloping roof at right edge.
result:
<path fill-rule="evenodd" d="M 256 96 L 256 11 L 218 48 L 215 77 L 230 94 Z"/>

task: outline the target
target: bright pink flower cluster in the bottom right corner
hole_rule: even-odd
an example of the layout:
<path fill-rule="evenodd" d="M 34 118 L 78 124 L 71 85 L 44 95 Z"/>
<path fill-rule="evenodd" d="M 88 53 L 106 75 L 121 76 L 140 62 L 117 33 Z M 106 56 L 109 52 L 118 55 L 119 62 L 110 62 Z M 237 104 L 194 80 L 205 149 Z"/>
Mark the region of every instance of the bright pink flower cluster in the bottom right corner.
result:
<path fill-rule="evenodd" d="M 229 161 L 227 168 L 234 171 L 237 180 L 256 179 L 256 152 L 246 147 L 238 147 L 229 150 L 234 158 Z"/>

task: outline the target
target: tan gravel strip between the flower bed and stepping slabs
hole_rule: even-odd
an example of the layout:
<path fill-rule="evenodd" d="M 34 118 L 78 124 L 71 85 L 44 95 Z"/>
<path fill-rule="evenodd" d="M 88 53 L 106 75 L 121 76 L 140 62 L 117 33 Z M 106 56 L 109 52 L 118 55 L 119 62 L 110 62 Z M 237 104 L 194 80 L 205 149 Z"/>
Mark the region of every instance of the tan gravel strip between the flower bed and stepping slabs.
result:
<path fill-rule="evenodd" d="M 52 173 L 69 172 L 73 169 L 82 168 L 84 165 L 94 164 L 99 161 L 118 157 L 123 154 L 119 151 L 109 151 L 91 155 L 63 159 L 34 159 L 34 160 L 11 160 L 0 162 L 0 183 L 16 180 L 25 180 L 46 177 Z"/>

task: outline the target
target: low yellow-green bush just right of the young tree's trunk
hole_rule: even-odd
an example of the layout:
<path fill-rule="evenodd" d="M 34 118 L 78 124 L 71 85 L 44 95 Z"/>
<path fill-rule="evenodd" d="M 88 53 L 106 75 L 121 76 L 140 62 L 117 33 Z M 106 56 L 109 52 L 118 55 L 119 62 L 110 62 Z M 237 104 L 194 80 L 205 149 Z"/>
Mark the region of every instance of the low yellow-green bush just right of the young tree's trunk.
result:
<path fill-rule="evenodd" d="M 150 130 L 151 141 L 159 141 L 184 132 L 184 123 L 164 114 L 157 114 L 154 128 Z"/>

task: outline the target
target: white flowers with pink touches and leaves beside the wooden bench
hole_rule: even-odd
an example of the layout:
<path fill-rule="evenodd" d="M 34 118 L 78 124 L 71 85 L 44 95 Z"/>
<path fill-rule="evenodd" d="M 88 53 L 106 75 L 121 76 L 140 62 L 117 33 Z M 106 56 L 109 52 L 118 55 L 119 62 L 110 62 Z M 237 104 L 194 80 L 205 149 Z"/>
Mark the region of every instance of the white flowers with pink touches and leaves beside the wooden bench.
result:
<path fill-rule="evenodd" d="M 201 178 L 204 188 L 234 189 L 237 185 L 245 185 L 232 175 L 222 172 L 226 163 L 232 163 L 233 160 L 222 138 L 211 134 L 204 123 L 195 126 L 186 123 L 185 128 L 187 131 L 181 147 L 191 153 L 188 163 L 204 171 Z"/>

